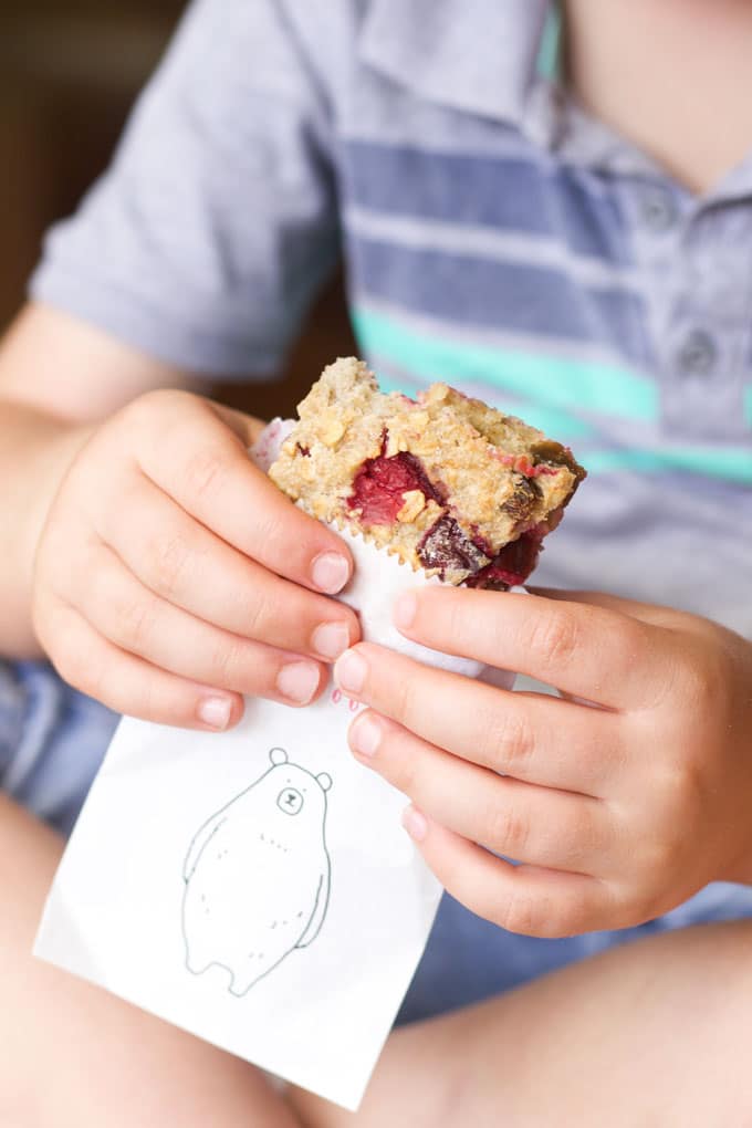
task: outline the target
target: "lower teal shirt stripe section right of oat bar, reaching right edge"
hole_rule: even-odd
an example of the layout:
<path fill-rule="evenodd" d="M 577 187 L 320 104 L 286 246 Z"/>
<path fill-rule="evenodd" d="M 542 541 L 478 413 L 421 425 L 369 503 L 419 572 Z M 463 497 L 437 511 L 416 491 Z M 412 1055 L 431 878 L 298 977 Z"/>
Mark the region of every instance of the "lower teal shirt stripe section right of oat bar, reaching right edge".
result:
<path fill-rule="evenodd" d="M 613 474 L 618 470 L 665 474 L 666 470 L 684 470 L 752 485 L 752 449 L 744 450 L 743 447 L 589 450 L 582 460 L 591 474 Z"/>

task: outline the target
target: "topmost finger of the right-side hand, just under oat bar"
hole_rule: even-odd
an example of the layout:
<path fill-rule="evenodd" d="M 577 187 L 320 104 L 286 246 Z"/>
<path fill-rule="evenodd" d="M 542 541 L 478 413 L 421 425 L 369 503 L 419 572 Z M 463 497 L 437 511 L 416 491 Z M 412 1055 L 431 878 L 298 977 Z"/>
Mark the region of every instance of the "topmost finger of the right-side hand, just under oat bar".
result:
<path fill-rule="evenodd" d="M 655 646 L 653 628 L 602 607 L 436 587 L 401 596 L 395 622 L 434 650 L 614 708 L 645 705 L 665 676 L 666 654 Z"/>

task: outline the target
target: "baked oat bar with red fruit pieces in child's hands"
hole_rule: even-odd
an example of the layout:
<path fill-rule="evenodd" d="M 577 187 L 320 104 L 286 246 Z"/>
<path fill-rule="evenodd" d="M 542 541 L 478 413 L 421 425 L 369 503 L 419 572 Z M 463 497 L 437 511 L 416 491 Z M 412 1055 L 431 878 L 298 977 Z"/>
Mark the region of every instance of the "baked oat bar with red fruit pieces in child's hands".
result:
<path fill-rule="evenodd" d="M 452 584 L 506 589 L 538 561 L 585 470 L 521 420 L 433 384 L 379 391 L 353 356 L 298 407 L 269 469 L 308 513 L 357 530 Z"/>

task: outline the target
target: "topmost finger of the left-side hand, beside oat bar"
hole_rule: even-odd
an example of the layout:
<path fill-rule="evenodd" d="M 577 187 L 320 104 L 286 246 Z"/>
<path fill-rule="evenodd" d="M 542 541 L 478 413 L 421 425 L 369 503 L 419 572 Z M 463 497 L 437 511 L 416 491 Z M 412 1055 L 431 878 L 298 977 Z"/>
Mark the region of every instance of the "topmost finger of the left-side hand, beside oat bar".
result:
<path fill-rule="evenodd" d="M 144 441 L 142 431 L 139 442 L 143 473 L 246 556 L 307 588 L 340 591 L 352 574 L 344 541 L 254 466 L 246 440 L 228 429 L 212 405 L 180 393 L 159 395 L 170 396 L 170 426 L 163 426 L 163 411 L 148 412 L 142 426 L 152 429 L 151 441 Z M 139 412 L 147 399 L 142 397 Z"/>

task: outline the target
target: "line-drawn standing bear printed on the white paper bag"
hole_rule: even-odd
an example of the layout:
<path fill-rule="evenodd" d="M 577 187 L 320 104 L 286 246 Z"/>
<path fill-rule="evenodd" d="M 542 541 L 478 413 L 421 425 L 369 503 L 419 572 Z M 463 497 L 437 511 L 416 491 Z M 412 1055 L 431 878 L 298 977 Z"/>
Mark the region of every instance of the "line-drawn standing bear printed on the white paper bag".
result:
<path fill-rule="evenodd" d="M 237 996 L 316 940 L 329 901 L 331 778 L 290 764 L 282 748 L 269 759 L 201 827 L 183 870 L 186 966 L 197 976 L 225 968 Z"/>

